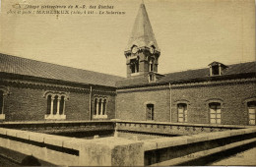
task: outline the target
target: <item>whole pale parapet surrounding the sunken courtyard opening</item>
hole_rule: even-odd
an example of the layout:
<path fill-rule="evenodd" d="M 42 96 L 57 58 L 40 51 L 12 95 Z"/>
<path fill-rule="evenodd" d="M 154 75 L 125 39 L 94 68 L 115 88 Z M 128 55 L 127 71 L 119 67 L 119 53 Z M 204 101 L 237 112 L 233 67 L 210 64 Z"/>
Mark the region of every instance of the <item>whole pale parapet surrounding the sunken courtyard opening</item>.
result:
<path fill-rule="evenodd" d="M 96 122 L 87 126 L 103 125 Z M 29 131 L 0 128 L 0 154 L 13 156 L 17 162 L 27 155 L 40 160 L 42 165 L 68 166 L 143 166 L 180 165 L 223 152 L 231 148 L 256 142 L 255 127 L 185 125 L 157 122 L 125 122 L 113 120 L 115 130 L 148 133 L 168 133 L 175 127 L 181 137 L 160 139 L 122 139 L 115 137 L 99 139 L 75 139 Z M 64 124 L 64 123 L 62 123 Z M 70 123 L 71 124 L 71 123 Z M 84 125 L 77 122 L 73 125 Z M 125 126 L 120 126 L 124 124 Z M 10 123 L 11 125 L 11 123 Z M 28 125 L 31 125 L 31 123 Z M 33 125 L 33 124 L 32 124 Z M 21 125 L 19 125 L 21 126 Z M 57 125 L 55 125 L 57 126 Z M 172 127 L 172 128 L 170 128 Z M 177 129 L 176 127 L 180 127 Z M 204 131 L 193 131 L 193 129 Z M 218 132 L 211 131 L 218 130 Z M 146 131 L 147 130 L 147 131 Z M 195 134 L 184 136 L 187 130 Z M 219 131 L 220 130 L 220 131 Z M 184 133 L 186 132 L 186 133 Z M 173 132 L 172 132 L 173 133 Z M 187 158 L 189 157 L 189 158 Z"/>

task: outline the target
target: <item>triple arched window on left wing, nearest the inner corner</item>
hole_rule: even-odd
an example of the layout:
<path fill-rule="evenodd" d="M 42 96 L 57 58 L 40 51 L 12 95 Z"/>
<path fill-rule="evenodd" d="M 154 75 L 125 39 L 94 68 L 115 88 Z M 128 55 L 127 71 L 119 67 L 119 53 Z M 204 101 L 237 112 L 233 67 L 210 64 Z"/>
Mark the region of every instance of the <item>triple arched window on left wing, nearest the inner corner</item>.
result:
<path fill-rule="evenodd" d="M 95 97 L 94 119 L 107 118 L 106 115 L 106 99 L 105 97 Z"/>

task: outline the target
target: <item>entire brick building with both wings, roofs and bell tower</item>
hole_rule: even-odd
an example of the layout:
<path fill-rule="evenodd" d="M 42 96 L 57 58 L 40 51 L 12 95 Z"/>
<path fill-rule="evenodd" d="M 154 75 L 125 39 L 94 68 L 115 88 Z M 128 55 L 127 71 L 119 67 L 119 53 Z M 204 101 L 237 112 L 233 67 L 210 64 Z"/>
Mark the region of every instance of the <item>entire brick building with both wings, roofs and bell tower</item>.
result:
<path fill-rule="evenodd" d="M 145 5 L 125 49 L 127 78 L 0 55 L 0 120 L 122 119 L 255 125 L 256 62 L 161 75 Z"/>

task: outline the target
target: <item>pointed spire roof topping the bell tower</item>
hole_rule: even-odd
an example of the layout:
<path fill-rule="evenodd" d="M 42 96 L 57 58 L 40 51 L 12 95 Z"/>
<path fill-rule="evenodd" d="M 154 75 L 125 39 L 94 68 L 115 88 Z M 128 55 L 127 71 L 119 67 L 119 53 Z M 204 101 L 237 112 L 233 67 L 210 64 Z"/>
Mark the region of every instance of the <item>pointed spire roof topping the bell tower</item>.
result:
<path fill-rule="evenodd" d="M 126 51 L 130 50 L 133 45 L 138 47 L 154 45 L 156 50 L 160 51 L 143 0 L 135 19 Z"/>

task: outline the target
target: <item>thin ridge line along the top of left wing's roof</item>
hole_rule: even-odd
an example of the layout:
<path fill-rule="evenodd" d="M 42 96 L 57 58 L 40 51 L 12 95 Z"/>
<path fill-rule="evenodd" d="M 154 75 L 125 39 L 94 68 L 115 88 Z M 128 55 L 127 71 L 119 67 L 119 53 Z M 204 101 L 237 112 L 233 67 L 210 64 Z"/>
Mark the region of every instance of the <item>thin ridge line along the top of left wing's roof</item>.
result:
<path fill-rule="evenodd" d="M 102 74 L 102 75 L 107 75 L 107 76 L 113 76 L 113 77 L 117 77 L 117 78 L 123 78 L 123 77 L 116 76 L 116 75 L 109 75 L 109 74 L 105 74 L 105 73 L 101 73 L 101 72 L 95 72 L 95 71 L 86 70 L 86 69 L 80 69 L 80 68 L 76 68 L 76 67 L 70 67 L 70 66 L 59 65 L 59 64 L 50 63 L 50 62 L 44 62 L 44 61 L 34 60 L 34 59 L 30 59 L 30 58 L 24 58 L 24 57 L 20 57 L 20 56 L 14 56 L 14 55 L 2 53 L 2 52 L 0 52 L 0 55 L 6 55 L 6 56 L 10 56 L 10 57 L 15 57 L 15 58 L 18 58 L 18 59 L 24 59 L 24 60 L 29 60 L 29 61 L 35 61 L 35 62 L 38 62 L 38 63 L 45 63 L 45 64 L 50 64 L 50 65 L 55 65 L 55 66 L 60 66 L 60 67 L 65 67 L 65 68 L 71 68 L 71 69 L 77 69 L 77 70 L 82 70 L 82 71 L 87 71 L 87 72 L 93 72 L 93 73 Z"/>

